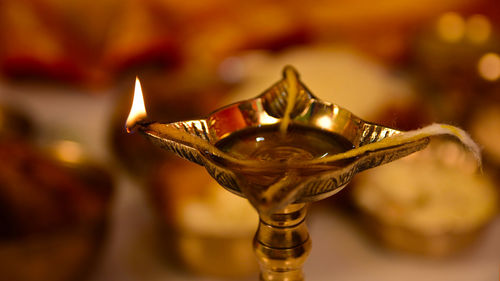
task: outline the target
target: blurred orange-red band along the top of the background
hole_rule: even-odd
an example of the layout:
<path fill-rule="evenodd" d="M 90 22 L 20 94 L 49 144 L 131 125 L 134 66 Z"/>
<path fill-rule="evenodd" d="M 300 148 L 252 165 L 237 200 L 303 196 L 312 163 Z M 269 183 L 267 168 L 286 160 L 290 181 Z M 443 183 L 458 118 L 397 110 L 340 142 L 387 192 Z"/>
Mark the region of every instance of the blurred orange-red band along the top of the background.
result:
<path fill-rule="evenodd" d="M 4 0 L 0 68 L 9 78 L 48 78 L 95 87 L 110 85 L 137 68 L 213 75 L 221 61 L 242 50 L 277 51 L 339 39 L 397 60 L 404 57 L 415 25 L 473 3 L 202 2 Z M 483 30 L 472 32 L 471 40 L 483 40 L 484 22 L 471 24 Z"/>

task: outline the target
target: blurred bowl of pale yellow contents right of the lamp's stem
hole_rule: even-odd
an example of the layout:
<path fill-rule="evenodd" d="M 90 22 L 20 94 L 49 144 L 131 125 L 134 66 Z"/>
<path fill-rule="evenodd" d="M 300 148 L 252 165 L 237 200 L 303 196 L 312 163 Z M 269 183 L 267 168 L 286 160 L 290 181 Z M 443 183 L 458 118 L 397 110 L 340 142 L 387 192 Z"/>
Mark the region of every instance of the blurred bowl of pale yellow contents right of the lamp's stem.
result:
<path fill-rule="evenodd" d="M 353 198 L 384 244 L 446 256 L 469 246 L 498 213 L 498 193 L 455 142 L 360 175 Z M 416 176 L 418 175 L 418 176 Z"/>

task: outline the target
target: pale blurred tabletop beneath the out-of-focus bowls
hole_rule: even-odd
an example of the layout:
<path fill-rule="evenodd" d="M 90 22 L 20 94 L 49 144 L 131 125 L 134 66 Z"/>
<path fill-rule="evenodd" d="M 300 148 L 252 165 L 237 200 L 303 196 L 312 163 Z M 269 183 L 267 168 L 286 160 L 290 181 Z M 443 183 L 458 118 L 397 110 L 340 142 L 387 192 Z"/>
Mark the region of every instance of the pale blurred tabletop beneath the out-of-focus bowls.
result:
<path fill-rule="evenodd" d="M 107 146 L 118 89 L 88 95 L 0 85 L 0 102 L 18 105 L 54 134 L 80 141 L 112 168 L 117 189 L 108 243 L 88 281 L 218 281 L 179 273 L 165 265 L 155 245 L 154 218 L 140 188 L 116 168 Z M 500 274 L 500 217 L 474 246 L 448 259 L 424 259 L 382 250 L 334 208 L 317 208 L 309 217 L 313 248 L 305 264 L 308 281 L 439 280 L 495 281 Z M 256 280 L 252 276 L 246 280 Z M 245 280 L 245 281 L 246 281 Z"/>

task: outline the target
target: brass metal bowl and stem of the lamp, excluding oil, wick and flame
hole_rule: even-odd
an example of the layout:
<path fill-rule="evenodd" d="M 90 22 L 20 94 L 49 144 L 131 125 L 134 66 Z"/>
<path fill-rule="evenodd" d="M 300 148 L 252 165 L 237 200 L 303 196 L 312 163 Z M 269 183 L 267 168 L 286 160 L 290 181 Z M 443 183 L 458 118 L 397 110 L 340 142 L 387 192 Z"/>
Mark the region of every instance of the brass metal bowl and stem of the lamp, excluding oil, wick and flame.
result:
<path fill-rule="evenodd" d="M 207 118 L 135 125 L 154 143 L 204 166 L 219 184 L 246 197 L 258 209 L 260 225 L 254 250 L 262 280 L 303 280 L 302 264 L 311 248 L 304 224 L 305 203 L 331 196 L 356 173 L 421 150 L 429 142 L 425 136 L 383 142 L 401 132 L 363 121 L 336 104 L 321 101 L 298 80 L 295 70 L 285 69 L 283 73 L 282 80 L 257 98 L 223 107 Z M 288 101 L 287 73 L 295 76 L 292 78 L 298 86 L 295 104 L 289 110 L 291 124 L 341 135 L 352 143 L 352 152 L 356 153 L 283 164 L 239 159 L 215 146 L 243 129 L 282 121 Z M 265 186 L 249 180 L 259 176 L 272 180 Z"/>

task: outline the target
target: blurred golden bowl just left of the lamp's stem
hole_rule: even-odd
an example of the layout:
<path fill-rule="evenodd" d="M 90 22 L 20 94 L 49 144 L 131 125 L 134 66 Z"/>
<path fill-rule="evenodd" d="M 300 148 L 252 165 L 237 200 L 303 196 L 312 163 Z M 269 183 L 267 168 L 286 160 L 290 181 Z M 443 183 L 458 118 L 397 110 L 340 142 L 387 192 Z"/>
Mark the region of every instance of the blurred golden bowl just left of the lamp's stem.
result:
<path fill-rule="evenodd" d="M 202 167 L 180 160 L 161 165 L 150 197 L 163 230 L 164 256 L 200 275 L 238 278 L 258 270 L 250 204 L 221 189 Z"/>

